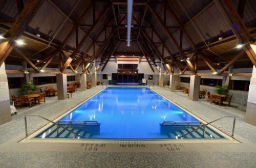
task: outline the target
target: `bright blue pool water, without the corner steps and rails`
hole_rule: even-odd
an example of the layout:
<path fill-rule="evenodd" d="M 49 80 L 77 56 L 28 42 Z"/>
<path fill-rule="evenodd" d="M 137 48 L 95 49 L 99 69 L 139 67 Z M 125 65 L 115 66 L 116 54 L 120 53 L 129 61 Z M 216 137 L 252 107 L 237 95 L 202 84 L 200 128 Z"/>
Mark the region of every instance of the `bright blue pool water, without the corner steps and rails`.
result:
<path fill-rule="evenodd" d="M 157 139 L 163 121 L 197 121 L 149 88 L 106 88 L 63 120 L 100 123 L 92 138 Z"/>

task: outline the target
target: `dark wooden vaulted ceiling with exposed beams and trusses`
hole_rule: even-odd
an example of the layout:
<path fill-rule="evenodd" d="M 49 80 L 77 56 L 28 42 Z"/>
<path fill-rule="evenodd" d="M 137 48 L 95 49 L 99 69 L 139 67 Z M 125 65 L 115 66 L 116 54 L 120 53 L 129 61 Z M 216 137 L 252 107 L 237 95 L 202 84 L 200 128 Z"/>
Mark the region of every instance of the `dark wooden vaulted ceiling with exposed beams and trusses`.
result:
<path fill-rule="evenodd" d="M 157 58 L 172 73 L 177 67 L 194 74 L 256 64 L 253 0 L 134 0 L 130 47 L 126 6 L 121 0 L 3 0 L 0 63 L 25 60 L 38 72 L 83 66 L 85 72 L 94 59 L 104 67 L 112 55 L 145 55 L 150 66 Z M 16 45 L 19 38 L 25 45 Z"/>

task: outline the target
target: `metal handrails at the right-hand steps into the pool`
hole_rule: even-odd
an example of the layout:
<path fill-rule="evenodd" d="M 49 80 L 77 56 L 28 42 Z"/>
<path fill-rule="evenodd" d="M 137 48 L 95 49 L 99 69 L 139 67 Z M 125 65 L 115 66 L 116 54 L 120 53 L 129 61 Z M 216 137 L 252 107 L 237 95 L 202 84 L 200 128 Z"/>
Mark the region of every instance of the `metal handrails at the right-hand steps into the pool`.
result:
<path fill-rule="evenodd" d="M 221 120 L 221 119 L 223 119 L 223 118 L 233 118 L 232 133 L 231 133 L 230 136 L 231 136 L 231 137 L 234 137 L 234 127 L 236 126 L 236 117 L 233 117 L 233 116 L 223 116 L 223 117 L 220 117 L 220 118 L 218 118 L 218 119 L 216 119 L 216 120 L 214 120 L 214 121 L 211 121 L 211 122 L 209 122 L 209 123 L 203 124 L 202 126 L 196 128 L 196 129 L 194 129 L 194 130 L 192 130 L 192 131 L 190 131 L 190 132 L 187 132 L 187 133 L 185 133 L 185 134 L 183 134 L 183 135 L 181 135 L 181 136 L 176 136 L 176 139 L 184 138 L 186 135 L 188 135 L 188 134 L 190 134 L 190 133 L 192 133 L 192 132 L 194 132 L 194 131 L 196 131 L 196 130 L 198 130 L 198 129 L 201 129 L 201 128 L 203 128 L 203 137 L 204 137 L 204 134 L 205 134 L 205 127 L 206 127 L 207 125 L 212 124 L 212 123 L 214 123 L 214 122 L 216 122 L 216 121 L 219 121 L 219 120 Z M 183 123 L 187 122 L 187 123 L 190 124 L 192 121 L 164 121 L 161 125 L 163 125 L 164 123 L 174 123 L 174 124 L 176 125 L 177 123 L 180 123 L 180 122 L 183 122 Z M 194 122 L 194 121 L 193 121 L 193 122 Z M 189 124 L 188 124 L 188 125 L 189 125 Z"/>

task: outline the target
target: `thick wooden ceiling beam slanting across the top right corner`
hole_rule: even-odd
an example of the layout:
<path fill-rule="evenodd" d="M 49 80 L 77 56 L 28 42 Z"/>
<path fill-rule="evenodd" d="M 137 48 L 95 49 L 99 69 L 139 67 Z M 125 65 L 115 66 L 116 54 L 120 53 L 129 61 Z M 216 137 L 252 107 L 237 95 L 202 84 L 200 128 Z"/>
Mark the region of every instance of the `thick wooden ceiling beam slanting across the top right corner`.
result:
<path fill-rule="evenodd" d="M 245 23 L 238 14 L 231 0 L 216 0 L 215 1 L 220 10 L 222 11 L 226 21 L 231 27 L 234 35 L 240 43 L 243 43 L 243 49 L 251 60 L 252 64 L 256 66 L 256 47 L 251 47 L 252 37 L 246 29 Z"/>

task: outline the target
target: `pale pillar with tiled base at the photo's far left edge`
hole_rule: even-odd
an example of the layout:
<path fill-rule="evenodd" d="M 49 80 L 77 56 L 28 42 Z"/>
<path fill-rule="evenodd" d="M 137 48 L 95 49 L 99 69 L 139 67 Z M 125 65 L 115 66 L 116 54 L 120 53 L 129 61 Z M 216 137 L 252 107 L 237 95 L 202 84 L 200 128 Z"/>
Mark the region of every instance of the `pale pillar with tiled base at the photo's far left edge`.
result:
<path fill-rule="evenodd" d="M 5 63 L 0 66 L 0 93 L 0 125 L 2 125 L 11 121 L 10 95 Z"/>

